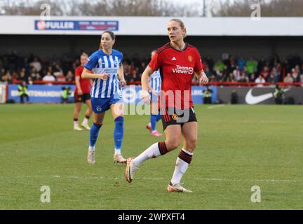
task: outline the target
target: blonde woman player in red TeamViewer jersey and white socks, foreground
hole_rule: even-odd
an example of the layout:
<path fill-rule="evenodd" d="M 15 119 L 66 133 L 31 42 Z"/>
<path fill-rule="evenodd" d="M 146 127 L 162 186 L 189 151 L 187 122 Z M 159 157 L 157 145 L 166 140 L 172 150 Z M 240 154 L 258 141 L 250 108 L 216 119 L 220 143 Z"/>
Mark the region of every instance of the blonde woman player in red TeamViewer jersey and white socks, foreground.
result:
<path fill-rule="evenodd" d="M 162 83 L 159 109 L 166 140 L 153 144 L 136 158 L 128 158 L 125 175 L 126 181 L 130 183 L 142 162 L 179 148 L 183 138 L 183 147 L 177 157 L 173 177 L 166 189 L 169 192 L 191 193 L 191 190 L 180 185 L 197 142 L 198 126 L 191 99 L 191 79 L 195 74 L 199 83 L 206 85 L 208 78 L 203 71 L 198 50 L 184 42 L 187 30 L 182 20 L 170 20 L 167 31 L 170 42 L 156 50 L 141 78 L 142 100 L 149 104 L 151 99 L 147 92 L 148 78 L 154 71 L 160 69 Z"/>

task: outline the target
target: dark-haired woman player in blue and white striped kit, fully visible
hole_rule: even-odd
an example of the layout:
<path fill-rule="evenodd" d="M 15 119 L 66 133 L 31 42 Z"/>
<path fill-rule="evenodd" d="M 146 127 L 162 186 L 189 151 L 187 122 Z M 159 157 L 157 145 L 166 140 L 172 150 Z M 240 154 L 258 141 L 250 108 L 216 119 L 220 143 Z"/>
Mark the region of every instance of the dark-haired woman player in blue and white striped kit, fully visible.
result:
<path fill-rule="evenodd" d="M 126 163 L 121 155 L 123 141 L 123 99 L 121 87 L 126 85 L 123 73 L 123 54 L 112 47 L 115 43 L 112 31 L 101 35 L 100 50 L 93 52 L 84 65 L 82 78 L 94 79 L 90 91 L 90 101 L 94 113 L 93 125 L 90 127 L 90 145 L 87 161 L 95 163 L 95 143 L 102 126 L 105 111 L 111 109 L 114 118 L 114 162 Z"/>

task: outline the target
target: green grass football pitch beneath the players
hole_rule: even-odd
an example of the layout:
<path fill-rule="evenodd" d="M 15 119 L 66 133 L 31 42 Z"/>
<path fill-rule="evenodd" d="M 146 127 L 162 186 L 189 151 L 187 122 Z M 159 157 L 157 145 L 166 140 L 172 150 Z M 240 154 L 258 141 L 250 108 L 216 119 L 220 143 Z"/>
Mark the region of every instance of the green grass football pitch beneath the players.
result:
<path fill-rule="evenodd" d="M 198 146 L 182 179 L 193 194 L 166 192 L 179 149 L 148 160 L 126 183 L 125 166 L 112 162 L 110 113 L 88 165 L 89 132 L 72 131 L 72 111 L 0 105 L 0 209 L 303 209 L 302 106 L 197 105 Z M 148 120 L 126 116 L 124 157 L 159 141 Z M 255 185 L 260 203 L 250 202 Z M 50 203 L 40 202 L 41 186 L 50 187 Z"/>

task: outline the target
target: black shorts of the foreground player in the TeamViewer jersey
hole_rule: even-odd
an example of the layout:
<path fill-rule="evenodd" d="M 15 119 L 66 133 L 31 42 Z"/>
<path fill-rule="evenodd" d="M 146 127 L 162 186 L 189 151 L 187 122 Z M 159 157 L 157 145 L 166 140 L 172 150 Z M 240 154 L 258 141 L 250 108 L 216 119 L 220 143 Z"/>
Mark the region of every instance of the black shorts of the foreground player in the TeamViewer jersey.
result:
<path fill-rule="evenodd" d="M 162 108 L 160 109 L 163 131 L 166 130 L 168 125 L 184 125 L 191 121 L 196 121 L 196 113 L 194 106 L 189 109 L 175 109 L 175 108 Z"/>

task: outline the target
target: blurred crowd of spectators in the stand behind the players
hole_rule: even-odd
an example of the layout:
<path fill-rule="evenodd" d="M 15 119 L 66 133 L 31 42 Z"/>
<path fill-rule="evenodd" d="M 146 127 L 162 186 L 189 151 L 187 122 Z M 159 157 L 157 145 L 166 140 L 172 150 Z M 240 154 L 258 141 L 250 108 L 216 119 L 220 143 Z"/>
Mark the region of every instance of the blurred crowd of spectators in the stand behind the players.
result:
<path fill-rule="evenodd" d="M 278 55 L 271 59 L 255 59 L 250 57 L 234 57 L 227 59 L 211 57 L 202 59 L 204 71 L 213 82 L 241 82 L 241 83 L 303 83 L 303 60 L 299 56 L 290 55 L 281 60 Z M 141 80 L 142 72 L 149 62 L 148 58 L 124 55 L 124 76 L 128 83 Z M 31 54 L 27 57 L 11 51 L 0 55 L 0 81 L 13 83 L 14 80 L 25 80 L 32 84 L 36 80 L 43 81 L 74 81 L 74 69 L 80 64 L 79 57 L 53 57 L 41 59 Z M 193 82 L 196 82 L 193 78 Z"/>

